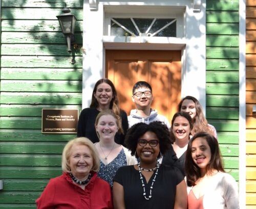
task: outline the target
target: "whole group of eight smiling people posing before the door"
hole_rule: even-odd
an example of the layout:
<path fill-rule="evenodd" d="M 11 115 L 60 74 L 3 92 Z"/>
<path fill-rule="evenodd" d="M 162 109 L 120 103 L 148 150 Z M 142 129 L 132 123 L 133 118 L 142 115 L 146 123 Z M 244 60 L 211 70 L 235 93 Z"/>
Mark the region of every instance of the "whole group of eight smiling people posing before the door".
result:
<path fill-rule="evenodd" d="M 63 173 L 50 179 L 37 208 L 239 208 L 237 182 L 199 101 L 184 97 L 170 124 L 151 108 L 147 82 L 134 85 L 132 100 L 127 116 L 114 84 L 95 84 L 78 138 L 63 149 Z"/>

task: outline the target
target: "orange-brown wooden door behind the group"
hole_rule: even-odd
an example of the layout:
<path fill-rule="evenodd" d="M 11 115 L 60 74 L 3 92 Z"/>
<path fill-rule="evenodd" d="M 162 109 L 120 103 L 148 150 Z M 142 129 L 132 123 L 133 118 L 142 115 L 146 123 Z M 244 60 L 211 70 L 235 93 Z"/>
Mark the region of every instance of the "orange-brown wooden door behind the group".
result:
<path fill-rule="evenodd" d="M 135 109 L 133 85 L 146 81 L 153 89 L 152 108 L 172 120 L 181 91 L 181 51 L 106 50 L 106 77 L 117 89 L 120 107 L 127 115 Z"/>

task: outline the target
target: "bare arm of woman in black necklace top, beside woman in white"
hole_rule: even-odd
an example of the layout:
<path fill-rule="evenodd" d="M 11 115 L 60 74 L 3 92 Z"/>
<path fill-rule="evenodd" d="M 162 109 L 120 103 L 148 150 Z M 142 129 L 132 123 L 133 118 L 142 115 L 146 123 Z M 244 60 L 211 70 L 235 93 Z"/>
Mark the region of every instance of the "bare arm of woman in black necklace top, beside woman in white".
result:
<path fill-rule="evenodd" d="M 185 180 L 182 180 L 180 184 L 176 186 L 174 209 L 186 209 L 186 208 L 187 208 L 187 189 L 186 189 Z"/>

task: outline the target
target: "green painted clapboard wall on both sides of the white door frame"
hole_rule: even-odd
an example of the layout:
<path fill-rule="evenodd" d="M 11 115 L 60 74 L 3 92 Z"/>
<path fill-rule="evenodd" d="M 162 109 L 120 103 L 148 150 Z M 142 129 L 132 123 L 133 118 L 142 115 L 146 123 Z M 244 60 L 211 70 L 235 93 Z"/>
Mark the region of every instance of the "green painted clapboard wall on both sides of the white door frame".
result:
<path fill-rule="evenodd" d="M 78 19 L 83 1 L 67 1 Z M 67 52 L 56 15 L 65 1 L 2 1 L 0 208 L 35 208 L 49 178 L 61 174 L 61 151 L 75 135 L 41 134 L 42 108 L 81 109 L 82 50 Z M 206 1 L 206 116 L 215 125 L 227 171 L 238 180 L 238 0 Z M 76 63 L 71 64 L 74 56 Z"/>

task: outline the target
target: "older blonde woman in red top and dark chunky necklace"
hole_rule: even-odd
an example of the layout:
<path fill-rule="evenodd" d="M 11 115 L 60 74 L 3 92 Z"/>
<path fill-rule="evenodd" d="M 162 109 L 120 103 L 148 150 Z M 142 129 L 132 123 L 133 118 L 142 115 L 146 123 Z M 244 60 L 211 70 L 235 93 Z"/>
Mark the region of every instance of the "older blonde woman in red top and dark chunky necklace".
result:
<path fill-rule="evenodd" d="M 69 141 L 62 152 L 61 176 L 50 179 L 36 200 L 42 208 L 113 208 L 109 184 L 97 177 L 99 156 L 84 137 Z"/>

